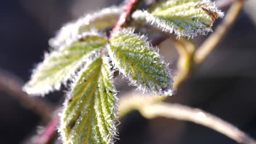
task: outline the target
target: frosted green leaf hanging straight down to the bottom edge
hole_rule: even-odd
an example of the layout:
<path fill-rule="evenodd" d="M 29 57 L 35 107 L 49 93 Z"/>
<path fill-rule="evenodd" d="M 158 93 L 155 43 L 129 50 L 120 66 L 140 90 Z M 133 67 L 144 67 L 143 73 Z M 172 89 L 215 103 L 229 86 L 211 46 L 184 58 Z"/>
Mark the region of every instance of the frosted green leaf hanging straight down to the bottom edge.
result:
<path fill-rule="evenodd" d="M 59 131 L 64 144 L 112 143 L 115 93 L 108 58 L 97 58 L 81 70 L 61 113 Z"/>

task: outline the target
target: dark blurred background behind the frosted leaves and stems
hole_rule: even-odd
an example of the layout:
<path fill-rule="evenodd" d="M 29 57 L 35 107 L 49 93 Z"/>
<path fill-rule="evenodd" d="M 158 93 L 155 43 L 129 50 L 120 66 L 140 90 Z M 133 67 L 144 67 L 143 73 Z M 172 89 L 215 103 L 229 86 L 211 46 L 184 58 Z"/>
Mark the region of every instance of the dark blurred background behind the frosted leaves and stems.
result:
<path fill-rule="evenodd" d="M 16 0 L 0 4 L 0 69 L 26 82 L 31 70 L 48 51 L 48 40 L 66 22 L 84 13 L 121 1 L 103 0 Z M 225 2 L 219 0 L 218 3 Z M 189 80 L 179 87 L 170 103 L 197 107 L 210 112 L 256 139 L 256 1 L 246 1 L 235 25 L 219 46 Z M 218 20 L 219 22 L 220 20 Z M 217 23 L 218 23 L 217 22 Z M 216 25 L 217 25 L 216 23 Z M 214 29 L 214 28 L 213 28 Z M 200 45 L 206 36 L 194 39 Z M 176 69 L 178 54 L 172 41 L 160 46 L 166 61 Z M 127 80 L 118 79 L 119 97 L 130 93 Z M 63 101 L 62 92 L 46 95 L 53 105 Z M 44 127 L 42 119 L 0 88 L 0 141 L 27 143 Z M 174 119 L 145 119 L 129 113 L 119 125 L 117 143 L 236 143 L 201 125 Z"/>

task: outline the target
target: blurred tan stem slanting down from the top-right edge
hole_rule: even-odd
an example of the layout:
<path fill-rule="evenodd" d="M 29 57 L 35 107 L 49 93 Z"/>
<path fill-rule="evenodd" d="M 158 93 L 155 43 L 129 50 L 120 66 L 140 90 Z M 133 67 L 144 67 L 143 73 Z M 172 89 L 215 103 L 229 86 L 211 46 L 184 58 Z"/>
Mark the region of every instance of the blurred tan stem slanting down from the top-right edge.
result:
<path fill-rule="evenodd" d="M 224 20 L 215 31 L 208 37 L 203 44 L 199 47 L 199 49 L 195 52 L 194 61 L 196 64 L 202 63 L 210 52 L 220 43 L 220 41 L 224 38 L 226 32 L 230 29 L 232 24 L 235 22 L 236 17 L 240 13 L 243 8 L 244 1 L 237 0 L 234 2 Z"/>

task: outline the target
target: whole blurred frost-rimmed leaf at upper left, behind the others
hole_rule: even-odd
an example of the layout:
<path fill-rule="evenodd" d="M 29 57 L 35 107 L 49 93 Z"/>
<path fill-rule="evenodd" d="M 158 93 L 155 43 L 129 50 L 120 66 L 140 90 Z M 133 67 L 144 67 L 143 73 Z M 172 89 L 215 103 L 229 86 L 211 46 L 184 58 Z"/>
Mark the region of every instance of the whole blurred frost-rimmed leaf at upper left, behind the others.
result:
<path fill-rule="evenodd" d="M 49 40 L 49 45 L 59 48 L 63 44 L 69 44 L 77 35 L 86 31 L 98 29 L 100 31 L 113 27 L 117 22 L 124 6 L 112 6 L 103 8 L 91 14 L 85 14 L 74 22 L 69 22 L 63 26 L 56 37 Z"/>

